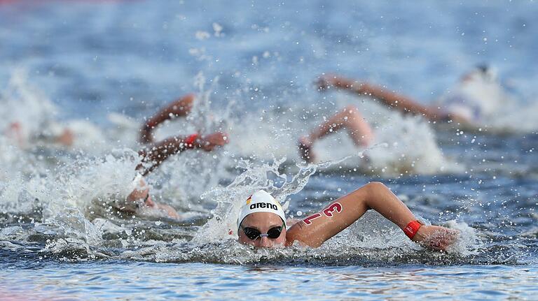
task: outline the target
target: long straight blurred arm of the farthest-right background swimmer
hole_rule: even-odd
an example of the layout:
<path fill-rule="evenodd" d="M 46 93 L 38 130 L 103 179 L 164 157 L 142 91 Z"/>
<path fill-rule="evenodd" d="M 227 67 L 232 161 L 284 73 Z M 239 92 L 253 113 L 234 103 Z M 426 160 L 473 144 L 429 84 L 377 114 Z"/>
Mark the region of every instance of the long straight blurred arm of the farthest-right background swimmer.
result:
<path fill-rule="evenodd" d="M 336 87 L 337 89 L 345 89 L 359 95 L 371 96 L 387 105 L 387 107 L 399 110 L 403 114 L 422 115 L 432 122 L 443 121 L 447 117 L 446 114 L 443 114 L 437 108 L 421 105 L 412 98 L 396 94 L 383 87 L 371 85 L 368 82 L 350 80 L 337 75 L 323 75 L 317 81 L 317 86 L 320 91 L 329 87 Z"/>

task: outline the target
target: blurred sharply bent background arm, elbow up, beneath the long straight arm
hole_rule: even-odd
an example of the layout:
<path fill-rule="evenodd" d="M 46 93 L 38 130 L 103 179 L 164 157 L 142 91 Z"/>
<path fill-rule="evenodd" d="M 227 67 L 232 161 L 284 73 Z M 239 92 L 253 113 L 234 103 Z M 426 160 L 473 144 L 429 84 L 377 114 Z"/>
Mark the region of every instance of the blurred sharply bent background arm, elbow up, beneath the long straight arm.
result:
<path fill-rule="evenodd" d="M 301 158 L 307 162 L 314 162 L 315 154 L 312 152 L 314 142 L 340 129 L 347 129 L 354 145 L 367 147 L 373 140 L 372 129 L 368 122 L 364 120 L 357 108 L 348 105 L 341 112 L 320 124 L 310 135 L 299 139 L 298 148 Z"/>

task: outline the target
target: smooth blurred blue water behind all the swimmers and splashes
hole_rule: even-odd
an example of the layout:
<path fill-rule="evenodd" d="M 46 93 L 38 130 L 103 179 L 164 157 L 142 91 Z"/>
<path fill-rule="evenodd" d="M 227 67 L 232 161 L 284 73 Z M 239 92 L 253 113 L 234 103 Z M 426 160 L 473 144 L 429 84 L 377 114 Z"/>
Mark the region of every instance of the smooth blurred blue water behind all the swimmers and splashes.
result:
<path fill-rule="evenodd" d="M 221 75 L 214 101 L 226 101 L 235 88 L 258 87 L 261 93 L 245 101 L 255 105 L 261 96 L 308 101 L 308 84 L 329 71 L 427 102 L 481 63 L 494 64 L 516 91 L 535 96 L 528 63 L 538 51 L 537 10 L 527 1 L 20 1 L 0 11 L 1 38 L 9 45 L 2 59 L 6 67 L 29 68 L 65 114 L 93 120 L 106 110 L 148 114 L 139 107 L 192 91 L 200 71 Z M 214 36 L 214 23 L 221 36 Z M 197 31 L 210 38 L 198 39 Z M 10 73 L 3 68 L 0 75 Z"/>

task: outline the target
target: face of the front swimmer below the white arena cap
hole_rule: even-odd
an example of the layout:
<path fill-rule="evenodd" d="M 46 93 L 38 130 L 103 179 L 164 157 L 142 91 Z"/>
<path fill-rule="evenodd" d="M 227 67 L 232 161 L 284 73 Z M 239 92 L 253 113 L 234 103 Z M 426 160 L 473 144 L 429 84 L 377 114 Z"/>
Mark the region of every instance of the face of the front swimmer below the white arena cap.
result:
<path fill-rule="evenodd" d="M 270 212 L 255 212 L 247 215 L 241 223 L 241 228 L 238 231 L 239 242 L 242 244 L 250 244 L 254 247 L 260 248 L 273 248 L 282 247 L 286 243 L 286 228 L 282 227 L 283 222 L 280 216 Z M 269 237 L 258 237 L 255 240 L 251 240 L 244 234 L 243 228 L 254 228 L 260 233 L 268 233 L 271 228 L 282 227 L 280 236 L 273 239 Z"/>

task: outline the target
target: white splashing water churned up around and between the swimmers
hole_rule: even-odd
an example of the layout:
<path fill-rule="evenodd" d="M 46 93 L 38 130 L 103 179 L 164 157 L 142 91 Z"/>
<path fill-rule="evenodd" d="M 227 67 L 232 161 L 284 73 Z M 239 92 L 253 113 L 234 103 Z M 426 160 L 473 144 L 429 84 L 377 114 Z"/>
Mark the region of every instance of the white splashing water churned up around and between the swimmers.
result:
<path fill-rule="evenodd" d="M 237 233 L 233 230 L 235 219 L 242 200 L 252 191 L 265 189 L 284 203 L 285 209 L 289 209 L 291 196 L 301 193 L 317 170 L 335 172 L 340 166 L 347 166 L 387 174 L 401 170 L 428 173 L 439 172 L 446 162 L 435 144 L 435 135 L 425 122 L 391 113 L 385 119 L 371 121 L 376 135 L 373 147 L 357 149 L 348 138 L 334 135 L 317 145 L 316 150 L 324 163 L 293 166 L 287 156 L 297 158 L 294 141 L 305 124 L 290 117 L 301 109 L 264 110 L 259 115 L 249 114 L 235 119 L 231 117 L 235 103 L 230 102 L 216 119 L 209 106 L 211 90 L 203 91 L 205 78 L 202 73 L 198 74 L 196 81 L 200 92 L 193 113 L 187 119 L 175 122 L 175 125 L 163 126 L 158 130 L 158 137 L 186 131 L 202 130 L 207 133 L 229 129 L 230 135 L 235 138 L 224 152 L 186 152 L 174 156 L 149 177 L 154 198 L 184 212 L 185 226 L 175 228 L 174 225 L 181 225 L 182 221 L 163 222 L 162 216 L 142 214 L 125 217 L 115 212 L 116 204 L 124 201 L 130 193 L 135 167 L 140 161 L 131 149 L 109 150 L 111 142 L 117 138 L 130 136 L 135 140 L 136 124 L 122 115 L 110 115 L 109 119 L 118 125 L 113 130 L 103 131 L 83 121 L 70 122 L 72 129 L 83 133 L 78 138 L 88 143 L 87 147 L 81 146 L 81 142 L 75 147 L 78 153 L 73 151 L 52 163 L 41 163 L 37 169 L 40 172 L 30 170 L 27 175 L 8 182 L 1 190 L 2 199 L 11 200 L 2 204 L 4 212 L 37 213 L 30 235 L 43 236 L 46 240 L 43 251 L 68 258 L 118 256 L 168 262 L 245 263 L 265 260 L 263 258 L 304 260 L 315 257 L 330 262 L 338 260 L 330 255 L 335 247 L 343 248 L 336 258 L 357 254 L 357 250 L 361 250 L 360 260 L 375 258 L 374 254 L 379 249 L 405 247 L 411 251 L 420 250 L 397 228 L 387 226 L 385 219 L 370 213 L 319 250 L 293 247 L 289 250 L 253 251 L 237 244 L 234 240 Z M 212 82 L 216 85 L 217 80 Z M 364 110 L 377 109 L 374 106 Z M 306 127 L 316 124 L 310 121 Z M 417 141 L 421 142 L 418 147 Z M 116 140 L 116 145 L 122 144 L 136 146 L 128 140 Z M 333 147 L 335 144 L 339 147 Z M 262 149 L 265 152 L 261 152 Z M 95 156 L 89 156 L 90 153 Z M 394 153 L 397 155 L 394 156 Z M 274 159 L 279 155 L 282 159 Z M 20 162 L 6 158 L 6 161 L 9 160 Z M 54 167 L 50 169 L 50 166 Z M 242 172 L 236 175 L 238 170 Z M 282 170 L 291 173 L 282 173 Z M 223 180 L 229 184 L 221 186 Z M 208 214 L 210 219 L 207 219 Z M 157 221 L 153 223 L 155 219 Z M 193 227 L 187 226 L 189 223 L 200 226 L 189 228 Z M 385 228 L 392 230 L 380 230 Z M 373 236 L 375 233 L 378 236 Z M 476 248 L 473 235 L 468 236 L 471 238 L 459 242 L 453 253 L 467 256 L 467 250 Z M 109 249 L 113 245 L 121 246 L 119 253 Z M 219 261 L 223 252 L 230 249 L 235 252 L 235 258 L 232 256 L 229 260 Z M 375 251 L 364 251 L 367 249 Z M 396 253 L 387 251 L 385 255 L 392 260 L 397 257 Z"/>

